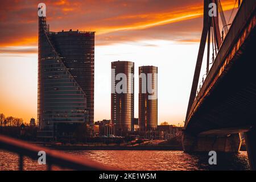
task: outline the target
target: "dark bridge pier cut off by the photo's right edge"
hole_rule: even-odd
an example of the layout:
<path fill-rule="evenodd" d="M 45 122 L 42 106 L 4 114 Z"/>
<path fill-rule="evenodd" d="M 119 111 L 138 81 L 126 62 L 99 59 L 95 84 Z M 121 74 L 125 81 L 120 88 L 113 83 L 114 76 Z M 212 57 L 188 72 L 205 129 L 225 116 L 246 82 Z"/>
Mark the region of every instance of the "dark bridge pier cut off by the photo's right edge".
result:
<path fill-rule="evenodd" d="M 251 170 L 256 170 L 256 128 L 245 133 L 246 150 Z"/>

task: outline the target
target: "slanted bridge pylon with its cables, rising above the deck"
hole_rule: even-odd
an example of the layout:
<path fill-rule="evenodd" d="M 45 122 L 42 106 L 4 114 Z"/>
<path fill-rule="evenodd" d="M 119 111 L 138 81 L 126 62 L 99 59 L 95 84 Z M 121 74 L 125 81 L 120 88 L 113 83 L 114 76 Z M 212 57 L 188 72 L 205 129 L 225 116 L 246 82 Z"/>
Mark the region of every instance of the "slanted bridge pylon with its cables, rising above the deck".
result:
<path fill-rule="evenodd" d="M 216 9 L 216 15 L 210 14 L 211 10 L 214 8 Z M 220 0 L 204 0 L 203 31 L 202 31 L 201 40 L 200 40 L 199 52 L 197 55 L 196 68 L 193 76 L 191 93 L 189 96 L 185 125 L 187 124 L 188 115 L 193 105 L 193 101 L 196 98 L 196 91 L 199 83 L 201 66 L 203 63 L 205 44 L 207 42 L 207 73 L 206 74 L 208 74 L 209 65 L 210 65 L 210 43 L 212 42 L 212 61 L 214 61 L 214 57 L 217 55 L 217 51 L 218 49 L 220 49 L 220 46 L 222 43 L 223 38 L 221 38 L 220 26 L 218 23 L 219 13 L 221 15 L 223 30 L 225 31 L 225 34 L 227 34 L 228 24 L 226 24 L 226 20 L 225 20 L 224 13 L 222 11 Z M 223 36 L 224 36 L 224 32 L 222 32 L 222 37 Z"/>

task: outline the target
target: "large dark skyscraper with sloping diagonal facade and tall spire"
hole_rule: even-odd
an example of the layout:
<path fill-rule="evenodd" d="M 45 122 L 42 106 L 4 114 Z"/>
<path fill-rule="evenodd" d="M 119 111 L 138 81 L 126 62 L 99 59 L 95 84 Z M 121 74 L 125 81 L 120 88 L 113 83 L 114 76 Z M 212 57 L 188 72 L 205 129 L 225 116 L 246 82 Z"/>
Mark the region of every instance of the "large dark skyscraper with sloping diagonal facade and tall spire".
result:
<path fill-rule="evenodd" d="M 84 135 L 93 125 L 94 32 L 51 32 L 39 17 L 38 40 L 38 137 Z"/>

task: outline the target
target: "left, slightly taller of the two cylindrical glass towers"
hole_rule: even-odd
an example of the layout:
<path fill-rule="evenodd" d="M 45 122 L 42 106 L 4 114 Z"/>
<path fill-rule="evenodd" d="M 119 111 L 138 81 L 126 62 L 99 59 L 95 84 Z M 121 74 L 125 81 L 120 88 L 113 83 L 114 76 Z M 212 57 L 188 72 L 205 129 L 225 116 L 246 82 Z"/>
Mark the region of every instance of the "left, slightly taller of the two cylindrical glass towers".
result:
<path fill-rule="evenodd" d="M 116 135 L 126 135 L 128 131 L 133 131 L 134 63 L 131 61 L 114 61 L 111 64 L 111 68 L 111 121 L 115 124 Z M 126 81 L 126 86 L 120 86 L 118 84 L 120 81 Z M 125 93 L 118 93 L 117 89 L 120 88 Z"/>

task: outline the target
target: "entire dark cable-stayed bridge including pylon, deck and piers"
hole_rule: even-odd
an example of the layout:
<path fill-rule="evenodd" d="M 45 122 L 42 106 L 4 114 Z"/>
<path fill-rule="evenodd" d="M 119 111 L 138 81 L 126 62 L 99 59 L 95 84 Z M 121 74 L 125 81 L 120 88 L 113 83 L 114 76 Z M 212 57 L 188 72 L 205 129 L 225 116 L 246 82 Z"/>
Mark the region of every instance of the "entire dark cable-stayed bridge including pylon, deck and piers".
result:
<path fill-rule="evenodd" d="M 208 14 L 210 3 L 216 3 L 220 13 L 222 36 L 219 14 L 214 17 Z M 229 29 L 223 16 L 220 0 L 204 1 L 204 27 L 185 119 L 183 148 L 185 152 L 238 152 L 240 133 L 245 133 L 250 167 L 256 169 L 256 1 L 242 1 Z M 199 85 L 207 42 L 207 76 Z M 209 69 L 210 43 L 213 63 Z"/>

